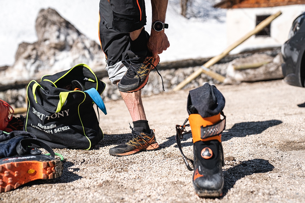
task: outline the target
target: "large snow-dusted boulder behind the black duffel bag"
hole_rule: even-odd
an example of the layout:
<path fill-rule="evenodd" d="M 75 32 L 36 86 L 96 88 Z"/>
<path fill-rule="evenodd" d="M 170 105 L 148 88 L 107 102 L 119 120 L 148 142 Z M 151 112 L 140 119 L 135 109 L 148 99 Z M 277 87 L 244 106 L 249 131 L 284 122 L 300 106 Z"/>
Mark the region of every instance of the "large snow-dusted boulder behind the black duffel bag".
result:
<path fill-rule="evenodd" d="M 38 13 L 36 31 L 38 41 L 21 43 L 14 65 L 0 70 L 1 85 L 40 80 L 43 75 L 53 75 L 80 63 L 93 70 L 104 69 L 105 55 L 99 44 L 84 36 L 54 9 L 42 9 Z"/>

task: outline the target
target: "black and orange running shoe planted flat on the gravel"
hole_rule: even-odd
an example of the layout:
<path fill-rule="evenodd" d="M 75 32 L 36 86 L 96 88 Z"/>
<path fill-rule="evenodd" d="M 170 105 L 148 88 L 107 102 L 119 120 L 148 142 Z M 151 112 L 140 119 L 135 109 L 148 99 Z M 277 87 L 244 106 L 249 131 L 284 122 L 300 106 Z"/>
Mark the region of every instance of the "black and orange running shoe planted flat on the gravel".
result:
<path fill-rule="evenodd" d="M 131 134 L 122 140 L 120 145 L 110 148 L 109 154 L 113 156 L 127 156 L 142 151 L 152 151 L 158 147 L 159 144 L 156 141 L 153 130 L 150 131 L 150 134 L 147 134 L 131 128 Z"/>

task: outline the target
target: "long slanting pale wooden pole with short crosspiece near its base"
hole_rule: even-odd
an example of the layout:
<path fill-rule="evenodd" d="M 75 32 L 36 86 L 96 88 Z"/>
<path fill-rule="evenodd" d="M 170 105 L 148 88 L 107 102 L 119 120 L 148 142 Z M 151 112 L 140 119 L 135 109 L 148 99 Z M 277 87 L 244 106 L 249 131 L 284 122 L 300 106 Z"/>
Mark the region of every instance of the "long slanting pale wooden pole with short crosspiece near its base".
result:
<path fill-rule="evenodd" d="M 282 12 L 277 12 L 271 16 L 269 16 L 268 18 L 264 19 L 262 22 L 260 22 L 260 24 L 258 24 L 254 30 L 252 30 L 251 32 L 247 33 L 244 37 L 242 37 L 241 39 L 237 40 L 235 43 L 231 44 L 226 50 L 224 50 L 221 54 L 219 54 L 218 56 L 215 56 L 213 58 L 211 58 L 209 61 L 207 61 L 205 64 L 203 64 L 201 66 L 201 68 L 199 68 L 197 71 L 193 72 L 191 75 L 189 75 L 185 80 L 183 80 L 182 82 L 180 82 L 175 88 L 174 91 L 177 91 L 181 88 L 183 88 L 186 84 L 188 84 L 189 82 L 191 82 L 193 79 L 195 79 L 198 75 L 200 75 L 201 73 L 205 73 L 206 75 L 211 76 L 214 79 L 219 80 L 220 82 L 224 82 L 225 77 L 222 75 L 219 75 L 218 73 L 215 73 L 213 71 L 211 71 L 209 69 L 209 67 L 211 65 L 214 65 L 215 63 L 217 63 L 219 60 L 221 60 L 222 58 L 224 58 L 225 55 L 227 55 L 230 51 L 232 51 L 235 47 L 237 47 L 239 44 L 242 44 L 245 40 L 247 40 L 249 37 L 251 37 L 252 35 L 258 33 L 260 30 L 263 30 L 264 27 L 266 27 L 267 25 L 269 25 L 271 23 L 272 20 L 276 19 L 279 15 L 281 15 Z"/>

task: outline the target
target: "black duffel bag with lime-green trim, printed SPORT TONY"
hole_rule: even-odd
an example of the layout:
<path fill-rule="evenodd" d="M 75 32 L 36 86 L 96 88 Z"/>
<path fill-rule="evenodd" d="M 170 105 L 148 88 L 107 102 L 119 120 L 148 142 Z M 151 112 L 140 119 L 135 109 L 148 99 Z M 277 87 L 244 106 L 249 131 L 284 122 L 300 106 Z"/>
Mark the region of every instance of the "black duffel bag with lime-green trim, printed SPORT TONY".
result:
<path fill-rule="evenodd" d="M 90 149 L 104 136 L 93 108 L 95 103 L 106 115 L 104 89 L 85 64 L 31 81 L 23 130 L 52 148 Z"/>

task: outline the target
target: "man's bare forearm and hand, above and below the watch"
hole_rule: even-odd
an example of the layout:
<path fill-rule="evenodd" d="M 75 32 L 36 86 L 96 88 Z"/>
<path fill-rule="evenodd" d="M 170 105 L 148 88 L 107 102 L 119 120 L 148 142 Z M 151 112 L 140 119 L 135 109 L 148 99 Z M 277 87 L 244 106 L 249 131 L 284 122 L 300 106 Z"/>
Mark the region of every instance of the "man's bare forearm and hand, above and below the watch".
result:
<path fill-rule="evenodd" d="M 161 21 L 164 23 L 168 0 L 151 0 L 152 4 L 152 22 Z M 152 52 L 153 58 L 159 59 L 158 54 L 161 54 L 170 46 L 164 30 L 157 32 L 151 29 L 148 49 Z M 159 61 L 159 60 L 158 60 Z"/>

